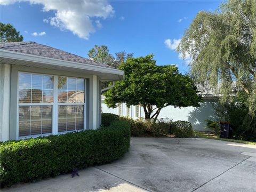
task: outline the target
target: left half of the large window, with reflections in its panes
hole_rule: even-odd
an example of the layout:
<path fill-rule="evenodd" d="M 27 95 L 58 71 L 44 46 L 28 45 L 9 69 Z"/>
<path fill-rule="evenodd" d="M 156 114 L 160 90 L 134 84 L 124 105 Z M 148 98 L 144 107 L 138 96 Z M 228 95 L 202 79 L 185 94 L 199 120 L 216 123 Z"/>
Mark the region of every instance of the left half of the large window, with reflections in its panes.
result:
<path fill-rule="evenodd" d="M 53 76 L 19 73 L 18 89 L 19 137 L 52 133 Z"/>

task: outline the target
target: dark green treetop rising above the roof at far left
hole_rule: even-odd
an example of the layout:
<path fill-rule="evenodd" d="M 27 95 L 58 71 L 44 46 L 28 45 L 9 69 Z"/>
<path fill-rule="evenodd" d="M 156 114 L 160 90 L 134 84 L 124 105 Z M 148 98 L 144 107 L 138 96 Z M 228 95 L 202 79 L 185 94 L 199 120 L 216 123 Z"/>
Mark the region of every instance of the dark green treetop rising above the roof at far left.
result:
<path fill-rule="evenodd" d="M 10 23 L 0 22 L 0 42 L 21 42 L 23 36 Z"/>

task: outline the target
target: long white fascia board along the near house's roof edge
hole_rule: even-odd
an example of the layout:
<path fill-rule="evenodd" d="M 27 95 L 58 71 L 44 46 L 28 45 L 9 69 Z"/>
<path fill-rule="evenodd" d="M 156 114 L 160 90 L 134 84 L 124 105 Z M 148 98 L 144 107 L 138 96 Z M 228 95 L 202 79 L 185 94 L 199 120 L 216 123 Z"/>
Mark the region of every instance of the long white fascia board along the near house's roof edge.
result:
<path fill-rule="evenodd" d="M 115 74 L 115 75 L 119 75 L 119 76 L 123 77 L 123 79 L 124 79 L 124 71 L 122 71 L 122 70 L 106 68 L 106 67 L 101 67 L 101 66 L 93 66 L 90 64 L 79 63 L 79 62 L 74 62 L 74 61 L 66 61 L 66 60 L 42 57 L 39 55 L 20 53 L 20 52 L 16 52 L 16 51 L 9 51 L 9 50 L 3 50 L 3 49 L 0 49 L 0 57 L 8 58 L 8 59 L 17 59 L 17 60 L 22 60 L 22 61 L 45 63 L 47 65 L 54 65 L 54 66 L 92 70 L 92 71 L 98 71 L 101 73 Z"/>

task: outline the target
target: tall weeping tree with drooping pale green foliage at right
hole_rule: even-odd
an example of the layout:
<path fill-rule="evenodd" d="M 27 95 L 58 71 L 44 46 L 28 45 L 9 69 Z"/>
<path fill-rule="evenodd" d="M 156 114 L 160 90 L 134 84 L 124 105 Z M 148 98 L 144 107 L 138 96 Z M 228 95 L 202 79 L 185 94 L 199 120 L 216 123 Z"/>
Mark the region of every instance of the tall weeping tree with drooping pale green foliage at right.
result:
<path fill-rule="evenodd" d="M 215 12 L 199 12 L 177 50 L 184 58 L 190 55 L 190 73 L 198 83 L 207 82 L 215 90 L 221 83 L 222 102 L 230 101 L 235 91 L 255 115 L 255 0 L 229 0 Z"/>

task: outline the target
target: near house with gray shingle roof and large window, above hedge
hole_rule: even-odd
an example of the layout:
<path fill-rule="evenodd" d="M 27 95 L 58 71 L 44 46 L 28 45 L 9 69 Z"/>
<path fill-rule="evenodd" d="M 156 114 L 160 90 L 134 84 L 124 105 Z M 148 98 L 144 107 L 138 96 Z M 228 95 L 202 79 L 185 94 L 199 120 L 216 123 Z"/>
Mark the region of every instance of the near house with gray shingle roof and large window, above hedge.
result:
<path fill-rule="evenodd" d="M 35 42 L 0 44 L 0 140 L 97 129 L 101 82 L 124 72 Z"/>

